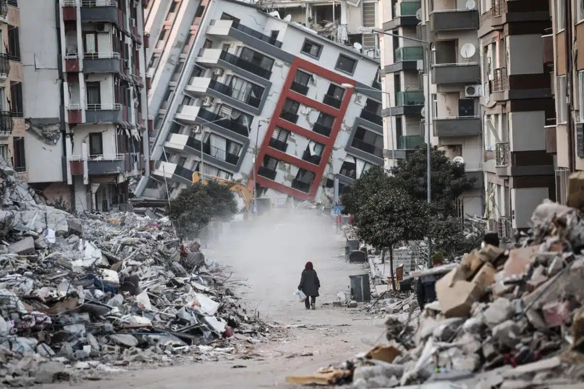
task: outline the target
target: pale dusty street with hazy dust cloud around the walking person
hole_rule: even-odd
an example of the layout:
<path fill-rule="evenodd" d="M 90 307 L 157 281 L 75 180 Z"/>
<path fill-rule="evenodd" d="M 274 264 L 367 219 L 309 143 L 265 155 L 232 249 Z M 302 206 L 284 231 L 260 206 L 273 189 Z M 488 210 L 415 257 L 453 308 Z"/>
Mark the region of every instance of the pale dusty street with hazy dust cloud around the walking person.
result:
<path fill-rule="evenodd" d="M 205 251 L 208 258 L 230 266 L 230 288 L 248 311 L 257 307 L 260 317 L 293 326 L 284 341 L 261 343 L 251 359 L 127 371 L 111 379 L 84 381 L 79 387 L 287 388 L 290 385 L 284 383 L 284 377 L 288 375 L 310 374 L 367 350 L 384 330 L 380 319 L 321 305 L 347 289 L 349 275 L 366 272 L 361 265 L 345 262 L 343 238 L 333 232 L 330 220 L 302 211 L 294 216 L 270 216 L 253 228 L 232 231 L 229 239 L 214 242 Z M 305 310 L 292 295 L 306 261 L 314 263 L 322 285 L 315 311 Z M 303 353 L 312 355 L 295 356 Z M 64 387 L 69 384 L 43 386 Z"/>

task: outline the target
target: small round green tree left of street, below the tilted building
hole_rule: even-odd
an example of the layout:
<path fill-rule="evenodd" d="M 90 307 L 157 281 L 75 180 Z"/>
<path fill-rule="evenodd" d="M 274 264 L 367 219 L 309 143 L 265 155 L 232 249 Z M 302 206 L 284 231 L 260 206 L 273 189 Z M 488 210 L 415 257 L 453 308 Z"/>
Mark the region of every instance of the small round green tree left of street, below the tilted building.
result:
<path fill-rule="evenodd" d="M 210 181 L 207 185 L 194 183 L 181 190 L 169 204 L 168 217 L 178 223 L 184 237 L 189 232 L 200 231 L 215 217 L 228 217 L 237 212 L 230 186 Z"/>

